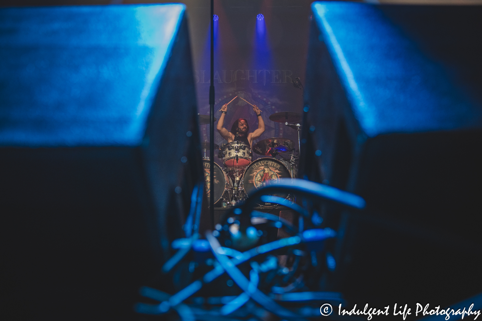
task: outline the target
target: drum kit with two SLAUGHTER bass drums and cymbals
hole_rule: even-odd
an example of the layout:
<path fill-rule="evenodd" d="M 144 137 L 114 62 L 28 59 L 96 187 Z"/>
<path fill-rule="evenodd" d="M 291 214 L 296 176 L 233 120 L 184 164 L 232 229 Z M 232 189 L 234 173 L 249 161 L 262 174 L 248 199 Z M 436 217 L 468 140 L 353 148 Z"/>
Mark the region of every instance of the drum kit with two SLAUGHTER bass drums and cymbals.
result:
<path fill-rule="evenodd" d="M 209 116 L 199 115 L 200 124 L 208 124 Z M 301 115 L 293 112 L 281 112 L 272 114 L 269 119 L 285 123 L 286 126 L 299 132 Z M 204 152 L 203 168 L 206 182 L 208 201 L 214 197 L 214 205 L 227 207 L 234 206 L 244 201 L 248 194 L 265 186 L 270 181 L 281 178 L 296 178 L 298 175 L 298 156 L 295 155 L 295 143 L 287 138 L 268 138 L 258 141 L 251 146 L 243 141 L 231 141 L 218 146 L 214 144 L 214 150 L 218 151 L 218 158 L 223 160 L 223 167 L 214 163 L 214 182 L 210 180 L 210 161 L 206 157 L 206 151 L 210 149 L 209 142 L 201 142 Z M 264 157 L 253 161 L 253 152 Z M 214 184 L 213 184 L 214 183 Z M 277 195 L 290 198 L 290 195 Z M 208 203 L 209 204 L 209 203 Z M 261 206 L 271 206 L 262 203 Z"/>

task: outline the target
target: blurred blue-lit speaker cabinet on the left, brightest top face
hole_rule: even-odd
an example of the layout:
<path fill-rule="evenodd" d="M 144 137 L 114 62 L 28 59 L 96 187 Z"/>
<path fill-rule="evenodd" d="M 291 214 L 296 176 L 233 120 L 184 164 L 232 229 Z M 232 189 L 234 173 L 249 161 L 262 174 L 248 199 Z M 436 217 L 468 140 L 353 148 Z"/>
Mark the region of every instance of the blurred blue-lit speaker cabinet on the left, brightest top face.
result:
<path fill-rule="evenodd" d="M 200 180 L 184 5 L 0 9 L 3 315 L 132 320 Z"/>

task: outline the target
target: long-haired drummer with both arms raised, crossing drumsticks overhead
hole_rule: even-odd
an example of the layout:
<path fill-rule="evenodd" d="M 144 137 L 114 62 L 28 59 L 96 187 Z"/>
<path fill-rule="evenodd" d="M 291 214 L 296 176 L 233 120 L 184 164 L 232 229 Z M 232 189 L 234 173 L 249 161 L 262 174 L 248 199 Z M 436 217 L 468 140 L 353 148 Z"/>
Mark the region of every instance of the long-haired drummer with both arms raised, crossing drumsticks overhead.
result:
<path fill-rule="evenodd" d="M 253 141 L 259 136 L 261 136 L 261 134 L 265 131 L 265 122 L 263 121 L 263 117 L 261 117 L 261 111 L 259 110 L 259 108 L 256 105 L 254 105 L 253 107 L 253 111 L 258 117 L 258 129 L 254 130 L 252 133 L 249 132 L 248 121 L 244 118 L 237 119 L 233 123 L 231 131 L 228 131 L 228 129 L 224 128 L 224 117 L 226 116 L 227 110 L 228 105 L 223 105 L 223 107 L 221 108 L 221 117 L 219 117 L 219 121 L 217 122 L 217 131 L 228 142 L 243 141 L 245 144 L 253 148 Z"/>

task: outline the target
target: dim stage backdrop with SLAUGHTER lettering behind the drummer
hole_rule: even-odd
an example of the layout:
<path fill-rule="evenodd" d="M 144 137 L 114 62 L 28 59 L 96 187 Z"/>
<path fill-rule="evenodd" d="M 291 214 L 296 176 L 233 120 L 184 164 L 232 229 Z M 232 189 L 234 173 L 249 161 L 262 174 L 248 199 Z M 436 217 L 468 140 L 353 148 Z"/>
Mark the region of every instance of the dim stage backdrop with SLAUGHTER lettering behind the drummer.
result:
<path fill-rule="evenodd" d="M 182 2 L 189 14 L 198 110 L 201 115 L 209 115 L 210 1 Z M 219 119 L 221 106 L 236 95 L 256 104 L 263 112 L 266 130 L 254 142 L 285 137 L 297 146 L 295 129 L 272 122 L 269 116 L 282 111 L 300 113 L 303 108 L 303 91 L 295 88 L 293 81 L 300 77 L 305 84 L 310 3 L 308 0 L 214 0 L 214 13 L 218 16 L 214 25 L 214 116 Z M 260 13 L 264 19 L 257 20 Z M 239 98 L 228 105 L 225 128 L 230 130 L 238 118 L 248 120 L 250 131 L 257 128 L 253 107 Z M 200 128 L 201 140 L 209 141 L 209 125 Z M 214 135 L 216 144 L 226 142 L 217 130 Z M 217 157 L 215 161 L 221 163 Z"/>

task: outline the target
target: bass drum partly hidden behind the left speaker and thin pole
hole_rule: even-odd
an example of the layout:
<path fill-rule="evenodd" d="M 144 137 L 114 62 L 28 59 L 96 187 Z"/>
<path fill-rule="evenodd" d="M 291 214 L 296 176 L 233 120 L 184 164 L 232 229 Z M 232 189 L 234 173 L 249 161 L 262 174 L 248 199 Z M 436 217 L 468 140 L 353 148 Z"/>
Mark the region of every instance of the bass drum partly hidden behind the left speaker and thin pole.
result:
<path fill-rule="evenodd" d="M 222 203 L 222 200 L 226 200 L 229 203 L 232 199 L 232 180 L 226 175 L 225 171 L 214 163 L 214 187 L 211 184 L 211 171 L 209 158 L 202 160 L 202 167 L 204 168 L 204 184 L 205 191 L 208 198 L 208 204 L 211 204 L 211 191 L 213 191 L 214 204 Z M 220 202 L 221 201 L 221 202 Z"/>

